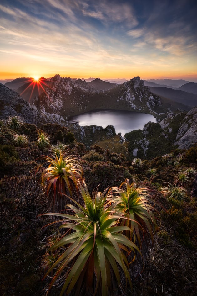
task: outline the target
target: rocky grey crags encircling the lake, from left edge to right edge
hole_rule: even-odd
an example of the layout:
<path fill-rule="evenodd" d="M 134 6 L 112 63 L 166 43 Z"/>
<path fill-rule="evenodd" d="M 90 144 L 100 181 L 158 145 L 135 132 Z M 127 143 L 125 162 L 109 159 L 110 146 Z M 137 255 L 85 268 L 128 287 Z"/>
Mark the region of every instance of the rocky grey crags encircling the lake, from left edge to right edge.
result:
<path fill-rule="evenodd" d="M 42 124 L 57 123 L 71 129 L 78 141 L 87 144 L 87 135 L 90 139 L 93 138 L 93 134 L 103 133 L 103 131 L 105 134 L 109 132 L 111 135 L 115 133 L 114 128 L 111 126 L 102 129 L 97 126 L 82 127 L 78 124 L 70 124 L 65 120 L 64 112 L 67 114 L 68 112 L 81 113 L 83 110 L 92 109 L 93 106 L 152 114 L 155 114 L 154 110 L 165 111 L 160 98 L 152 94 L 139 77 L 134 77 L 129 82 L 117 85 L 106 92 L 98 92 L 89 87 L 85 81 L 80 79 L 73 81 L 70 78 L 56 75 L 52 77 L 50 87 L 46 87 L 45 92 L 36 97 L 33 104 L 30 105 L 17 92 L 0 83 L 0 118 L 20 115 L 26 123 L 33 123 L 41 128 Z M 134 137 L 131 135 L 135 154 L 136 151 L 144 151 L 145 155 L 148 153 L 151 155 L 151 147 L 155 148 L 155 145 L 158 145 L 160 137 L 162 145 L 174 144 L 180 149 L 187 149 L 197 141 L 197 107 L 192 108 L 188 113 L 180 110 L 173 113 L 168 110 L 167 113 L 155 115 L 158 123 L 145 124 L 141 132 L 140 130 L 136 131 L 141 134 L 138 138 L 136 135 Z"/>

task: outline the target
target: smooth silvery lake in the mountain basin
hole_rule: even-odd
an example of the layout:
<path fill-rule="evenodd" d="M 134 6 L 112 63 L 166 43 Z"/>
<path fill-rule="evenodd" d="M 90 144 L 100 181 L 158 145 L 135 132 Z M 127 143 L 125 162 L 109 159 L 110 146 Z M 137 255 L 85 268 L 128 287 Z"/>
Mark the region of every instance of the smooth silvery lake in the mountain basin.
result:
<path fill-rule="evenodd" d="M 82 126 L 97 125 L 103 128 L 114 125 L 116 134 L 121 133 L 122 136 L 132 130 L 142 130 L 144 124 L 149 121 L 157 122 L 151 114 L 123 110 L 91 111 L 73 116 L 68 121 Z"/>

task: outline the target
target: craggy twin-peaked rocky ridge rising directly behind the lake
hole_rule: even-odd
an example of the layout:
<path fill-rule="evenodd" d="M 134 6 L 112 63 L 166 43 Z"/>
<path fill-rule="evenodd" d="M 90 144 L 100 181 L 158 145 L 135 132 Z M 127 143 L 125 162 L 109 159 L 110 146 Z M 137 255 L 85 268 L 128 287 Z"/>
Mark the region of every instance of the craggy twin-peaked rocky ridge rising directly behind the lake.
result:
<path fill-rule="evenodd" d="M 46 87 L 45 93 L 36 97 L 34 103 L 39 111 L 60 114 L 64 118 L 98 109 L 148 114 L 163 111 L 159 97 L 144 86 L 140 77 L 99 92 L 81 79 L 73 81 L 55 75 L 51 78 L 50 87 Z"/>

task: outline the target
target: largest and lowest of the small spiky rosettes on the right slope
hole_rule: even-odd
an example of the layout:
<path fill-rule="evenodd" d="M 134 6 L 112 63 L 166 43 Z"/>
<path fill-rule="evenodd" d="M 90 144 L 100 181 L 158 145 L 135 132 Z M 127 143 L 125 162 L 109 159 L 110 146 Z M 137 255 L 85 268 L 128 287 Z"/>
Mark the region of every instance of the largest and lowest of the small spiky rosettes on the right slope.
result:
<path fill-rule="evenodd" d="M 167 183 L 166 186 L 161 188 L 160 192 L 166 198 L 175 198 L 180 201 L 187 199 L 187 191 L 180 185 Z"/>

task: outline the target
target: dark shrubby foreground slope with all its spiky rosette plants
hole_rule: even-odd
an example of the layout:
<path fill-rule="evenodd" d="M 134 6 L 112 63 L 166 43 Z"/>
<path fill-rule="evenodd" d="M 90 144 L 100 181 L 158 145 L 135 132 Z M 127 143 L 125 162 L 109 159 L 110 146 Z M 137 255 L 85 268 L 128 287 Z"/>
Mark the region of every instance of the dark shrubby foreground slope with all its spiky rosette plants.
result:
<path fill-rule="evenodd" d="M 2 295 L 196 294 L 197 146 L 128 160 L 17 118 L 0 143 Z"/>

